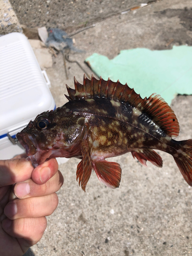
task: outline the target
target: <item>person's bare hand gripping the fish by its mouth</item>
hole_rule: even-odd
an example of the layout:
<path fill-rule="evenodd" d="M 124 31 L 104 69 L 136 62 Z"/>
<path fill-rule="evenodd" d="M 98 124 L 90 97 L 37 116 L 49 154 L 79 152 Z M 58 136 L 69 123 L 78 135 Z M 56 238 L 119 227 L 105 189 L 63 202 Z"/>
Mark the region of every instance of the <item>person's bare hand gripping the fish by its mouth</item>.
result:
<path fill-rule="evenodd" d="M 23 255 L 41 239 L 62 184 L 56 159 L 36 168 L 25 158 L 0 160 L 1 256 Z"/>

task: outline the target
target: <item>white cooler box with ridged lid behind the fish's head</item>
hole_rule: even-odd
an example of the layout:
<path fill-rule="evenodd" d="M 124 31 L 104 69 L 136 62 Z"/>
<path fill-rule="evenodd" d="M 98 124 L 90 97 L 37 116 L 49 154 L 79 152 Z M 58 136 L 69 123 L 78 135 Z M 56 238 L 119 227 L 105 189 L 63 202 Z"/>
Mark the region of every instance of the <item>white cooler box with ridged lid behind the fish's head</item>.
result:
<path fill-rule="evenodd" d="M 0 159 L 24 153 L 13 144 L 17 132 L 41 112 L 55 109 L 49 84 L 25 35 L 0 37 Z"/>

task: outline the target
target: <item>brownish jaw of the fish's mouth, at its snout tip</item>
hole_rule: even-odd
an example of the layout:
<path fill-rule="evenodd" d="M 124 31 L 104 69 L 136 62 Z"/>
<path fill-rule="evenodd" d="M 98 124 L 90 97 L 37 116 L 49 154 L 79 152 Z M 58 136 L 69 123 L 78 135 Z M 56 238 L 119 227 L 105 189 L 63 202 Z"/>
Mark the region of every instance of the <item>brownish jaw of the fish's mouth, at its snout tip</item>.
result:
<path fill-rule="evenodd" d="M 17 133 L 16 135 L 17 140 L 20 144 L 25 148 L 26 154 L 28 156 L 34 155 L 37 152 L 37 148 L 35 147 L 34 140 L 32 139 L 32 136 L 25 134 L 25 133 Z"/>

